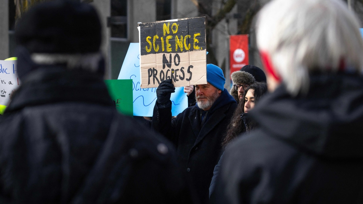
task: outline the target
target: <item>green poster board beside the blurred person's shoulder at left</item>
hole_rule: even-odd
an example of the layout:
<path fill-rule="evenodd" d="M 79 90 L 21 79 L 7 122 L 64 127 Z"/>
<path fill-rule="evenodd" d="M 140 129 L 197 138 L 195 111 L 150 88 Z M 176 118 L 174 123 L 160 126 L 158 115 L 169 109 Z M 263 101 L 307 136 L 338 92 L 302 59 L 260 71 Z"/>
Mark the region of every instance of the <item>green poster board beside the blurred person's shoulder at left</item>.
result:
<path fill-rule="evenodd" d="M 132 116 L 134 108 L 132 104 L 132 79 L 105 80 L 111 99 L 116 109 L 124 115 Z"/>

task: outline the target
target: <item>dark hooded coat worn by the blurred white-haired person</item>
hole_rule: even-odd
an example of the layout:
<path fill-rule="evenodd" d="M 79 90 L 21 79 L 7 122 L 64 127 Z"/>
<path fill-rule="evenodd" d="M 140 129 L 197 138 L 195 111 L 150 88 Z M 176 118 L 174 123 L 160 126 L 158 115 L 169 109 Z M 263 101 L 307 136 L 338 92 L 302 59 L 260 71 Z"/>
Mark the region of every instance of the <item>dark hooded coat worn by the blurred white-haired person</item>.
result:
<path fill-rule="evenodd" d="M 363 78 L 314 75 L 250 112 L 260 128 L 225 151 L 217 203 L 363 203 Z"/>

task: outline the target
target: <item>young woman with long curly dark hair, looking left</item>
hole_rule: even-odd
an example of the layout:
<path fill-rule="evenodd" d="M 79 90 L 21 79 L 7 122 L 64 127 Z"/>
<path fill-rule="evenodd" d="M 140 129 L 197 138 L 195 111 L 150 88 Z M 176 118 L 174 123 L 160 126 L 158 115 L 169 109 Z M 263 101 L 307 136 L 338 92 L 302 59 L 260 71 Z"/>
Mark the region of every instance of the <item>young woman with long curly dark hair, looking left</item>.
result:
<path fill-rule="evenodd" d="M 234 114 L 231 118 L 231 122 L 227 127 L 227 133 L 222 142 L 223 147 L 226 147 L 232 140 L 237 138 L 242 133 L 250 132 L 255 127 L 255 123 L 248 117 L 248 112 L 254 108 L 257 101 L 267 92 L 267 84 L 264 82 L 257 82 L 251 84 L 244 93 L 244 100 L 238 104 Z M 213 177 L 211 185 L 209 186 L 209 198 L 213 199 L 214 185 L 219 172 L 220 163 L 215 166 L 213 171 Z"/>

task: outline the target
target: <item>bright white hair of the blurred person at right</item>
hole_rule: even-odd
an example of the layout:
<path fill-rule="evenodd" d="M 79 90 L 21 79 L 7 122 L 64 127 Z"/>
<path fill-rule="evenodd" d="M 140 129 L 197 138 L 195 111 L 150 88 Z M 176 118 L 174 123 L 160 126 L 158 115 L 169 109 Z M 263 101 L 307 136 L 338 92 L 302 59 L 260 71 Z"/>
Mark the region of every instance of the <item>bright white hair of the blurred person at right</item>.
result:
<path fill-rule="evenodd" d="M 342 0 L 272 0 L 256 26 L 258 49 L 291 95 L 308 91 L 312 71 L 362 74 L 360 24 Z"/>

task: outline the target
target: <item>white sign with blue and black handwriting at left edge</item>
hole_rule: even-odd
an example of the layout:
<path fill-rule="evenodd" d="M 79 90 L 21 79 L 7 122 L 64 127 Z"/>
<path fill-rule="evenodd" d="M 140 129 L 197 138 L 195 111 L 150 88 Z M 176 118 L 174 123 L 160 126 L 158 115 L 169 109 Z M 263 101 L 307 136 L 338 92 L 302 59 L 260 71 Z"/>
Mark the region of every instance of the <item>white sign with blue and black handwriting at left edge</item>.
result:
<path fill-rule="evenodd" d="M 8 105 L 12 91 L 19 85 L 16 60 L 0 60 L 0 105 Z"/>

